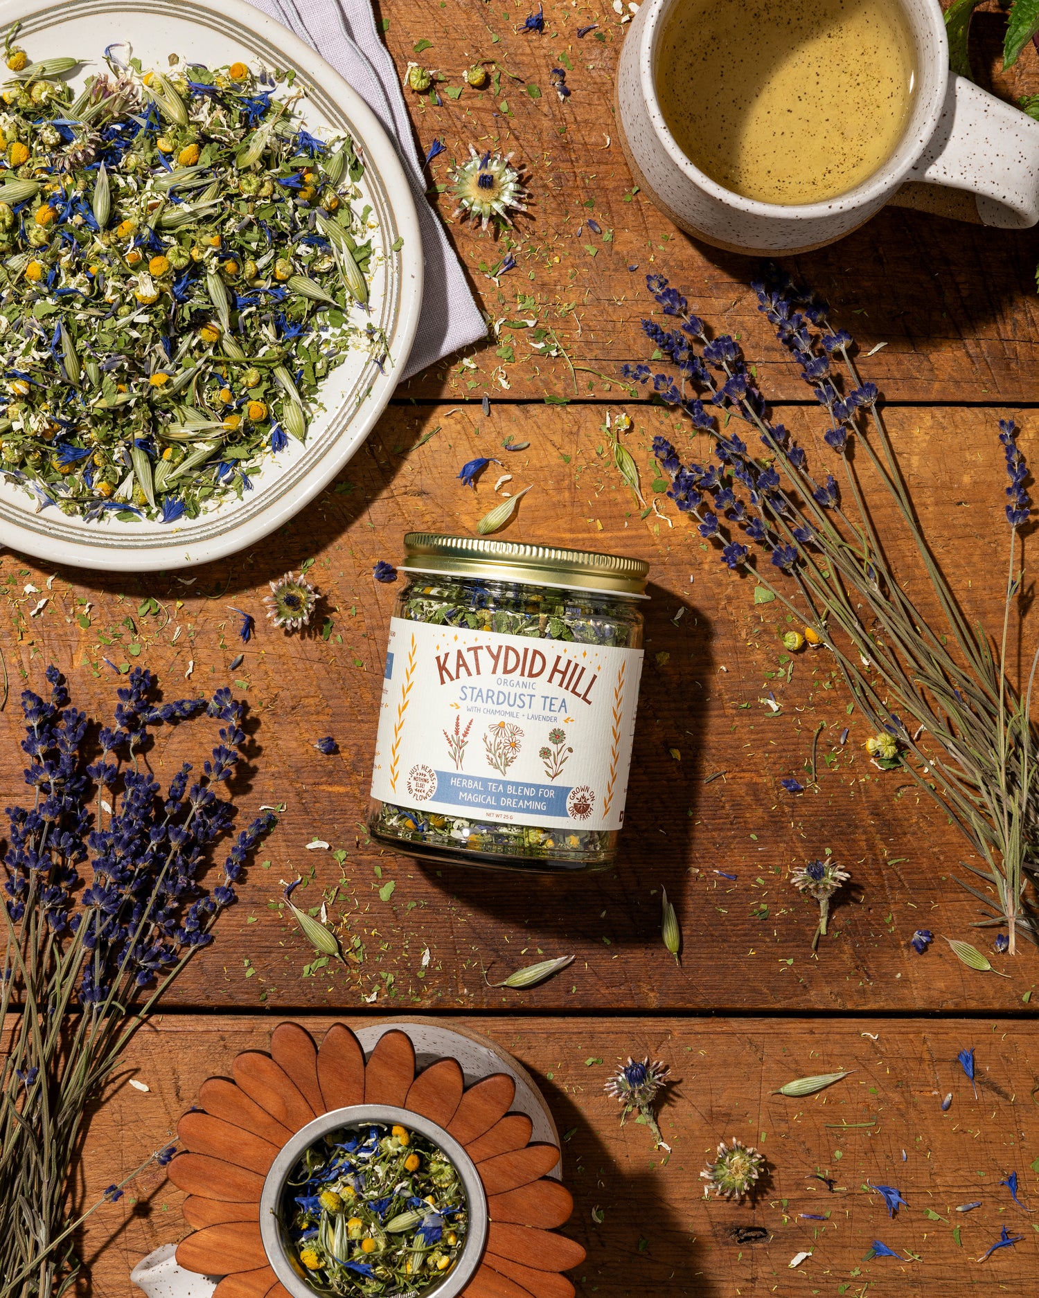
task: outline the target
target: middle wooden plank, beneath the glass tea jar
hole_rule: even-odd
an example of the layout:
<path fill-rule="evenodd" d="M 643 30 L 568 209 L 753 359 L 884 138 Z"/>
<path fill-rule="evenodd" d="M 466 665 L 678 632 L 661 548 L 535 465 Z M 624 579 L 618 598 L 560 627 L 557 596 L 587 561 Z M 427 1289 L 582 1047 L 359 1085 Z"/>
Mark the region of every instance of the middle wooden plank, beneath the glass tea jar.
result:
<path fill-rule="evenodd" d="M 990 630 L 1001 623 L 1007 566 L 996 421 L 1008 413 L 1014 411 L 888 413 L 934 553 L 966 615 Z M 782 417 L 818 465 L 826 448 L 814 410 L 788 409 Z M 749 583 L 703 550 L 695 528 L 662 496 L 656 498 L 674 527 L 639 518 L 609 462 L 603 422 L 595 408 L 510 406 L 486 419 L 439 408 L 395 410 L 345 471 L 343 482 L 353 489 L 326 492 L 281 532 L 277 562 L 256 552 L 197 570 L 184 578 L 191 585 L 174 576 L 61 572 L 47 607 L 29 618 L 39 594 L 25 594 L 23 587 L 47 589 L 53 569 L 13 557 L 0 561 L 8 592 L 0 648 L 13 692 L 22 684 L 42 688 L 44 666 L 53 661 L 69 674 L 77 705 L 109 722 L 118 680 L 104 658 L 127 670 L 131 662 L 148 666 L 169 697 L 191 693 L 201 679 L 210 687 L 245 683 L 235 688 L 249 704 L 260 752 L 249 761 L 239 819 L 245 822 L 260 803 L 284 801 L 286 811 L 236 885 L 240 901 L 219 919 L 217 941 L 171 989 L 169 1009 L 249 1006 L 281 1015 L 329 1006 L 364 1012 L 404 1006 L 417 1012 L 569 1012 L 626 1005 L 656 1011 L 988 1012 L 1021 1006 L 1036 981 L 1029 958 L 996 959 L 1013 976 L 986 977 L 961 966 L 940 940 L 961 937 L 988 949 L 984 932 L 970 928 L 978 905 L 955 881 L 966 874 L 957 863 L 971 859 L 960 835 L 938 809 L 905 790 L 897 772 L 870 765 L 868 729 L 847 715 L 848 696 L 820 654 L 803 652 L 781 662 L 778 635 L 787 623 L 775 605 L 755 605 Z M 1020 422 L 1022 449 L 1035 463 L 1039 414 L 1025 411 Z M 442 431 L 426 445 L 409 450 L 438 426 Z M 669 434 L 690 453 L 709 453 L 665 411 L 639 414 L 626 441 L 648 495 L 649 447 L 657 434 Z M 509 436 L 529 440 L 530 450 L 507 456 L 501 443 Z M 399 591 L 373 582 L 371 566 L 379 558 L 399 561 L 409 527 L 471 532 L 495 498 L 497 470 L 491 466 L 473 492 L 457 482 L 458 467 L 494 453 L 508 458 L 510 485 L 535 484 L 505 536 L 638 554 L 652 565 L 620 863 L 571 883 L 461 867 L 443 867 L 438 876 L 366 844 L 358 829 L 368 814 L 386 626 Z M 891 511 L 878 510 L 877 522 L 897 544 Z M 290 565 L 299 570 L 310 557 L 308 571 L 327 614 L 313 635 L 273 631 L 264 620 L 268 579 Z M 917 596 L 918 571 L 907 554 L 903 561 Z M 236 617 L 226 607 L 229 583 L 235 606 L 252 610 L 261 624 L 248 645 L 238 640 Z M 140 602 L 152 596 L 166 611 L 140 615 Z M 94 604 L 88 628 L 77 622 L 81 600 Z M 327 641 L 321 637 L 326 617 Z M 1014 648 L 1014 665 L 1029 661 L 1033 643 L 1029 632 L 1020 657 Z M 129 652 L 132 645 L 140 646 L 139 657 Z M 229 674 L 239 652 L 245 661 Z M 195 671 L 184 681 L 190 661 Z M 762 701 L 769 692 L 782 715 L 771 715 Z M 0 714 L 0 787 L 8 803 L 26 797 L 17 711 L 10 702 Z M 779 779 L 804 774 L 820 723 L 818 789 L 791 798 Z M 340 752 L 322 757 L 312 741 L 329 733 L 338 736 Z M 162 727 L 149 761 L 165 781 L 182 759 L 201 761 L 214 740 L 205 719 Z M 307 850 L 314 835 L 330 844 L 329 851 Z M 853 887 L 838 894 L 830 936 L 813 959 L 818 909 L 795 893 L 788 874 L 827 846 L 851 868 Z M 342 864 L 334 855 L 340 850 Z M 264 861 L 274 864 L 265 870 Z M 353 957 L 347 964 L 314 968 L 313 950 L 284 909 L 277 909 L 278 880 L 295 877 L 296 868 L 308 883 L 294 894 L 300 903 L 319 903 L 338 889 L 329 912 Z M 387 881 L 395 889 L 382 901 Z M 661 887 L 678 909 L 684 941 L 679 964 L 660 941 Z M 939 935 L 923 957 L 909 946 L 920 927 Z M 542 958 L 522 954 L 535 940 L 545 955 L 574 954 L 574 966 L 527 990 L 486 986 L 479 963 L 491 981 L 500 981 Z M 430 962 L 423 966 L 426 950 Z M 723 959 L 722 951 L 736 951 L 739 959 Z"/>

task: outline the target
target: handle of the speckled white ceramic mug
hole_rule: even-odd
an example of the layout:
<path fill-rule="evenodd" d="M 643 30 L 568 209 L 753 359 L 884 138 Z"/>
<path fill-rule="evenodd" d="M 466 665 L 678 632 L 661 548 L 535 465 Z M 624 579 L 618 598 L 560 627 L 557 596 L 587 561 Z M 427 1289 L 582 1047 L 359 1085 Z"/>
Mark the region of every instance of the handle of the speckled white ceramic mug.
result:
<path fill-rule="evenodd" d="M 974 219 L 983 226 L 1026 230 L 1039 222 L 1039 122 L 951 75 L 935 132 L 905 179 L 961 191 L 958 202 L 948 196 L 948 215 L 970 219 L 964 206 L 973 195 Z M 935 200 L 927 206 L 940 210 L 942 200 Z"/>

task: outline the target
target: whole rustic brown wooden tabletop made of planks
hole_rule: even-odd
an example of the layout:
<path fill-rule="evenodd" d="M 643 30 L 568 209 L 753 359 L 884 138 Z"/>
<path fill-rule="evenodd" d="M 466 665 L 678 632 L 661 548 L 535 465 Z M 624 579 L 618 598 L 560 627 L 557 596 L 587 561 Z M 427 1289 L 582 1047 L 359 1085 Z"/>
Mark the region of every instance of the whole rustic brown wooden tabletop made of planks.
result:
<path fill-rule="evenodd" d="M 161 1022 L 138 1037 L 96 1115 L 84 1193 L 118 1180 L 165 1138 L 201 1080 L 225 1072 L 238 1050 L 262 1049 L 282 1016 L 318 1031 L 330 1015 L 356 1025 L 438 1014 L 516 1053 L 568 1133 L 565 1177 L 578 1201 L 568 1232 L 588 1249 L 574 1276 L 581 1294 L 860 1298 L 958 1295 L 975 1285 L 1023 1294 L 1039 1227 L 999 1182 L 1017 1171 L 1023 1202 L 1039 1208 L 1035 949 L 994 957 L 1005 977 L 956 961 L 942 936 L 988 946 L 970 927 L 977 903 L 956 881 L 970 859 L 964 840 L 897 774 L 869 763 L 865 723 L 848 715 L 829 662 L 804 653 L 781 662 L 786 623 L 774 606 L 755 605 L 749 584 L 704 553 L 664 496 L 656 498 L 665 517 L 643 519 L 613 470 L 607 414 L 632 417 L 627 444 L 648 492 L 652 437 L 675 427 L 666 410 L 631 400 L 618 375 L 648 350 L 639 326 L 653 305 L 648 271 L 682 286 L 717 330 L 738 334 L 779 417 L 813 454 L 821 426 L 756 310 L 753 262 L 696 244 L 634 192 L 612 108 L 620 16 L 608 4 L 549 0 L 539 36 L 517 32 L 529 12 L 527 0 L 377 5 L 401 74 L 418 60 L 457 88 L 477 60 L 497 60 L 501 70 L 496 95 L 442 91 L 440 106 L 408 96 L 418 147 L 434 139 L 447 147 L 430 166 L 431 197 L 495 336 L 405 384 L 340 479 L 230 561 L 151 576 L 56 571 L 10 553 L 0 562 L 8 802 L 23 797 L 18 691 L 40 688 L 55 662 L 75 702 L 104 716 L 118 684 L 110 659 L 119 671 L 152 668 L 166 697 L 231 684 L 251 716 L 249 768 L 235 796 L 244 813 L 286 803 L 217 942 L 177 984 Z M 597 30 L 578 39 L 577 29 L 592 22 Z M 986 12 L 975 18 L 981 79 L 1010 99 L 1039 90 L 1031 45 L 1017 69 L 988 75 L 1000 22 Z M 422 40 L 431 45 L 416 53 Z M 558 65 L 570 67 L 566 103 L 548 79 Z M 530 215 L 497 240 L 452 223 L 442 192 L 470 141 L 514 151 L 531 173 Z M 488 271 L 508 251 L 517 269 L 495 283 Z M 864 371 L 884 393 L 934 553 L 966 611 L 990 627 L 1007 546 L 996 421 L 1017 418 L 1022 448 L 1039 454 L 1036 260 L 1038 231 L 890 208 L 842 243 L 790 262 L 830 299 L 862 356 L 886 344 Z M 556 357 L 532 345 L 539 327 L 553 331 Z M 507 456 L 509 436 L 530 448 Z M 512 487 L 534 487 L 507 536 L 651 562 L 627 824 L 617 868 L 601 875 L 432 870 L 365 836 L 396 593 L 373 582 L 371 567 L 400 558 L 409 528 L 474 530 L 495 479 L 484 474 L 475 492 L 457 480 L 477 454 L 507 459 Z M 894 526 L 883 514 L 878 520 Z M 303 563 L 322 604 L 307 633 L 286 636 L 265 622 L 261 600 L 271 579 Z M 920 594 L 918 575 L 908 571 L 907 580 Z M 40 593 L 26 593 L 30 584 L 48 597 L 36 615 Z M 257 618 L 248 645 L 231 605 Z M 1027 633 L 1023 641 L 1021 654 Z M 778 713 L 765 702 L 769 692 Z M 779 780 L 804 770 L 820 724 L 818 785 L 791 798 Z M 323 735 L 339 742 L 332 757 L 313 748 Z M 199 727 L 161 731 L 149 757 L 158 776 L 197 757 L 197 744 Z M 308 850 L 314 839 L 329 849 Z M 788 874 L 827 848 L 853 887 L 813 957 L 817 909 Z M 282 880 L 296 872 L 307 884 L 297 901 L 327 901 L 351 955 L 345 966 L 316 964 L 279 909 Z M 683 931 L 678 964 L 660 940 L 661 888 Z M 923 957 L 909 949 L 916 928 L 936 935 Z M 495 990 L 484 980 L 571 953 L 571 968 L 536 989 Z M 977 1101 L 956 1064 L 970 1046 Z M 653 1151 L 644 1127 L 621 1128 L 603 1094 L 609 1070 L 647 1053 L 675 1077 L 661 1115 L 669 1159 Z M 856 1071 L 821 1096 L 771 1094 L 792 1077 L 838 1068 Z M 130 1088 L 130 1076 L 151 1090 Z M 948 1092 L 953 1105 L 943 1112 Z M 700 1198 L 705 1154 L 729 1136 L 760 1145 L 769 1159 L 753 1205 Z M 899 1186 L 909 1206 L 890 1221 L 866 1181 Z M 186 1233 L 181 1198 L 152 1173 L 134 1197 L 94 1218 L 90 1293 L 134 1292 L 130 1266 Z M 981 1208 L 956 1214 L 977 1198 Z M 975 1263 L 1003 1225 L 1022 1241 Z M 866 1262 L 874 1238 L 918 1260 Z M 801 1251 L 810 1258 L 788 1269 Z"/>

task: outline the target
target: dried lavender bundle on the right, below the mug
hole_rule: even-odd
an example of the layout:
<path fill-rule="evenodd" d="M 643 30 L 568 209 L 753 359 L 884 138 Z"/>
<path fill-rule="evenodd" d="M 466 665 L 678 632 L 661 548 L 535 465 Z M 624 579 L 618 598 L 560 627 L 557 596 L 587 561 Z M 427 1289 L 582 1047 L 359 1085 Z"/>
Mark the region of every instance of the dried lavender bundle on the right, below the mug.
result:
<path fill-rule="evenodd" d="M 831 474 L 814 476 L 804 449 L 771 422 L 735 340 L 712 339 L 662 275 L 649 275 L 647 284 L 678 326 L 643 321 L 671 369 L 626 365 L 622 374 L 652 383 L 662 402 L 713 437 L 718 461 L 686 463 L 671 443 L 657 437 L 653 452 L 671 476 L 668 495 L 696 519 L 696 531 L 727 567 L 753 575 L 805 623 L 813 645 L 834 654 L 856 705 L 878 731 L 874 744 L 884 761 L 900 759 L 983 858 L 984 868 L 964 864 L 987 890 L 962 881 L 986 909 L 981 925 L 1005 925 L 1010 954 L 1018 933 L 1039 942 L 1039 912 L 1025 897 L 1029 876 L 1035 879 L 1039 823 L 1030 720 L 1039 655 L 1023 689 L 1005 670 L 1010 618 L 1021 617 L 1017 533 L 1031 514 L 1029 470 L 1013 422 L 1000 421 L 999 434 L 1010 479 L 1010 544 L 1003 628 L 994 641 L 968 622 L 931 556 L 878 408 L 879 392 L 860 379 L 853 340 L 832 327 L 826 304 L 775 267 L 753 286 L 758 309 L 826 411 L 825 441 L 839 457 L 843 483 Z M 723 428 L 712 408 L 723 413 Z M 731 418 L 749 426 L 764 450 L 752 452 L 730 432 Z M 894 500 L 943 627 L 931 627 L 896 579 L 873 526 L 866 479 Z"/>

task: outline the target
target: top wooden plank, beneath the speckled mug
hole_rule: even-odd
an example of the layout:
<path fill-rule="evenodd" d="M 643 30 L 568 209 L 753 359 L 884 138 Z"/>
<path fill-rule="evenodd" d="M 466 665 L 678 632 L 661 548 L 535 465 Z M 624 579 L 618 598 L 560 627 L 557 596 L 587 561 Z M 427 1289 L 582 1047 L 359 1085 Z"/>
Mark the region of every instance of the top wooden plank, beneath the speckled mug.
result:
<path fill-rule="evenodd" d="M 417 147 L 440 140 L 445 152 L 429 166 L 435 205 L 470 274 L 484 313 L 494 321 L 532 319 L 534 328 L 503 324 L 499 336 L 471 349 L 470 369 L 456 357 L 407 384 L 416 397 L 448 401 L 492 397 L 543 400 L 547 392 L 575 398 L 617 400 L 618 370 L 648 356 L 639 318 L 643 276 L 662 271 L 720 330 L 739 334 L 784 397 L 800 395 L 783 365 L 768 324 L 757 314 L 749 282 L 757 260 L 697 244 L 661 215 L 634 184 L 621 153 L 613 108 L 613 79 L 623 40 L 621 16 L 581 12 L 565 0 L 544 6 L 544 35 L 517 31 L 531 10 L 527 0 L 475 12 L 412 0 L 407 10 L 384 4 L 386 42 L 401 78 L 409 64 L 442 69 L 458 99 L 442 86 L 439 105 L 407 92 Z M 577 29 L 599 30 L 578 39 Z M 1025 47 L 1008 74 L 992 71 L 1005 18 L 974 19 L 974 66 L 982 82 L 1012 103 L 1039 90 L 1039 57 Z M 418 34 L 432 48 L 416 55 Z M 603 40 L 597 40 L 603 36 Z M 464 87 L 461 70 L 473 60 L 496 60 L 499 93 Z M 560 61 L 571 95 L 561 104 L 548 71 Z M 534 87 L 529 92 L 527 87 Z M 539 97 L 532 97 L 536 93 Z M 496 244 L 477 228 L 452 221 L 448 173 L 469 156 L 469 144 L 514 151 L 531 173 L 530 214 Z M 588 225 L 594 219 L 601 234 Z M 508 251 L 517 269 L 488 278 Z M 888 345 L 873 361 L 892 398 L 914 401 L 1022 401 L 1034 398 L 1039 361 L 1039 305 L 1034 273 L 1036 231 L 982 228 L 887 208 L 839 244 L 790 258 L 796 271 L 840 312 L 862 350 Z M 575 366 L 553 358 L 552 339 L 535 349 L 535 328 L 551 330 Z M 594 373 L 597 371 L 597 373 Z M 599 375 L 605 375 L 605 382 Z M 500 378 L 509 384 L 505 389 Z M 609 386 L 607 386 L 609 384 Z"/>

